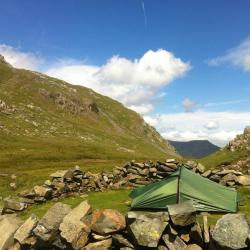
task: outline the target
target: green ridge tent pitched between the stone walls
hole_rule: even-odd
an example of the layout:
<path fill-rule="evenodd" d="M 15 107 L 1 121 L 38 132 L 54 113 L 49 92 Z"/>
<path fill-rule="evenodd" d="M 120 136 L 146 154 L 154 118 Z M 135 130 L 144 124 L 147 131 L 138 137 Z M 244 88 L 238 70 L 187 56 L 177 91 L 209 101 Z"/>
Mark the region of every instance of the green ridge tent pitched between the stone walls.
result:
<path fill-rule="evenodd" d="M 166 209 L 167 205 L 193 200 L 197 211 L 237 212 L 237 191 L 210 181 L 186 167 L 158 182 L 130 193 L 132 209 Z"/>

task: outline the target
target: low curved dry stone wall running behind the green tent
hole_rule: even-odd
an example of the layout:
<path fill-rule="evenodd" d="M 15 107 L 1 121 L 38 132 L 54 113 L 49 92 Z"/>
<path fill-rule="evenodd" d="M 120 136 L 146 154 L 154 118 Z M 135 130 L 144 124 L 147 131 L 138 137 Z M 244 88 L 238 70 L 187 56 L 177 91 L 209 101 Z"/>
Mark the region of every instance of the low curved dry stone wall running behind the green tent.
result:
<path fill-rule="evenodd" d="M 47 200 L 57 200 L 75 194 L 89 191 L 104 191 L 106 189 L 135 188 L 167 178 L 173 174 L 182 163 L 175 159 L 166 161 L 147 161 L 138 163 L 131 161 L 122 167 L 115 167 L 112 172 L 93 174 L 83 172 L 78 166 L 73 169 L 60 170 L 50 175 L 43 185 L 35 186 L 31 191 L 22 192 L 19 200 L 6 198 L 2 214 L 23 211 L 35 203 Z M 234 169 L 206 170 L 197 162 L 188 161 L 185 166 L 197 174 L 225 186 L 250 186 L 250 175 Z"/>

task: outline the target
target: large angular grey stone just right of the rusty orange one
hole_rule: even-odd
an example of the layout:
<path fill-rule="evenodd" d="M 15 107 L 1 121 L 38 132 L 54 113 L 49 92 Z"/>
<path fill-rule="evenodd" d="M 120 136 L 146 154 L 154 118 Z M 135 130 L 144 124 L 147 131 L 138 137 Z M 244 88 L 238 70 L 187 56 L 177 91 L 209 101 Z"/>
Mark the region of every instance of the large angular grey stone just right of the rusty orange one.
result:
<path fill-rule="evenodd" d="M 168 225 L 167 212 L 128 212 L 127 217 L 133 221 L 129 225 L 129 229 L 137 244 L 143 247 L 157 247 L 161 235 Z"/>

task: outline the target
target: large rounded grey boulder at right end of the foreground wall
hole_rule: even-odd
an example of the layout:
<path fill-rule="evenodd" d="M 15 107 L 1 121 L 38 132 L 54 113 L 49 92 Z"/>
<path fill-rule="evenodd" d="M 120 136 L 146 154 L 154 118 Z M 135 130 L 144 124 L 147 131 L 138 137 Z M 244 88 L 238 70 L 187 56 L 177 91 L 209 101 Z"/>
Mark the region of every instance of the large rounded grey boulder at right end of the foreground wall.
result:
<path fill-rule="evenodd" d="M 212 238 L 219 247 L 232 250 L 247 247 L 248 235 L 248 221 L 242 214 L 223 215 L 212 232 Z"/>

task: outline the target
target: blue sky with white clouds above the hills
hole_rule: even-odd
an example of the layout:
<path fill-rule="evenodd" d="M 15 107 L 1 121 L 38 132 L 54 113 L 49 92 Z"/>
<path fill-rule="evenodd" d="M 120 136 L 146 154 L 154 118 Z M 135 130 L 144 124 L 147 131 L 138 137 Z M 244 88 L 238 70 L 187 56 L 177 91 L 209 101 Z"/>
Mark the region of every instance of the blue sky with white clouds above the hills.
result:
<path fill-rule="evenodd" d="M 175 140 L 250 125 L 247 0 L 4 1 L 0 53 L 121 101 Z"/>

